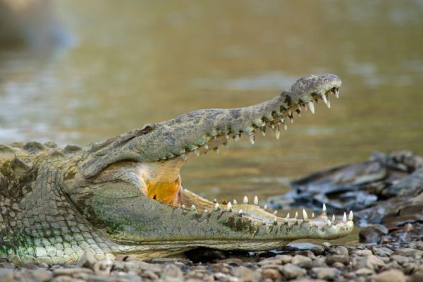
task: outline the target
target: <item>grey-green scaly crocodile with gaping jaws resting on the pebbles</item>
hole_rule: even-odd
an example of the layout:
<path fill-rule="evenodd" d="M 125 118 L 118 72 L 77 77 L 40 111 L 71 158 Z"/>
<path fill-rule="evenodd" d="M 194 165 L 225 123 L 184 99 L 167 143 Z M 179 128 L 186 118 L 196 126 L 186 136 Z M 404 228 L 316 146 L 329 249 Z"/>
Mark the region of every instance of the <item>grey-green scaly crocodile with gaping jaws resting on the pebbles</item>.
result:
<path fill-rule="evenodd" d="M 255 132 L 286 128 L 294 114 L 338 97 L 336 75 L 307 75 L 261 104 L 202 109 L 149 123 L 86 147 L 52 142 L 0 146 L 0 259 L 72 264 L 85 252 L 168 257 L 197 247 L 271 250 L 298 238 L 334 239 L 353 230 L 353 212 L 328 218 L 302 210 L 276 216 L 257 197 L 209 201 L 183 187 L 180 168 Z"/>

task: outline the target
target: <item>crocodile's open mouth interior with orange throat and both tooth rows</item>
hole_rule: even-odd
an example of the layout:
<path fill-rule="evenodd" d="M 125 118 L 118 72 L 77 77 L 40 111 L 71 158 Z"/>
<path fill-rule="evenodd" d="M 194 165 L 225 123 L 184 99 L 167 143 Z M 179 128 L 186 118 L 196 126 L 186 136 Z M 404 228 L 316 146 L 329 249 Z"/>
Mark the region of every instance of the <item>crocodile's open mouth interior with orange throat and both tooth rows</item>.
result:
<path fill-rule="evenodd" d="M 233 212 L 240 216 L 245 216 L 252 221 L 261 221 L 269 224 L 295 224 L 302 221 L 309 221 L 309 219 L 321 219 L 313 221 L 316 225 L 331 226 L 336 221 L 335 216 L 329 218 L 326 215 L 326 207 L 322 209 L 322 214 L 318 217 L 314 213 L 307 214 L 302 210 L 302 219 L 299 218 L 298 213 L 287 214 L 285 217 L 276 216 L 276 212 L 271 212 L 266 206 L 259 207 L 259 200 L 257 196 L 253 200 L 249 200 L 247 196 L 243 197 L 242 202 L 233 200 L 232 202 L 216 202 L 209 201 L 196 195 L 189 190 L 186 190 L 181 185 L 179 171 L 185 161 L 190 157 L 207 154 L 213 150 L 219 153 L 219 146 L 228 146 L 228 142 L 238 141 L 245 135 L 251 144 L 255 144 L 255 134 L 262 133 L 266 135 L 269 131 L 273 131 L 276 139 L 279 139 L 281 128 L 287 130 L 288 123 L 293 123 L 295 116 L 301 117 L 305 111 L 311 111 L 314 114 L 314 103 L 319 100 L 324 102 L 328 108 L 331 107 L 330 98 L 339 97 L 339 85 L 335 85 L 329 90 L 311 92 L 302 95 L 300 99 L 293 99 L 286 95 L 283 100 L 283 105 L 279 109 L 274 109 L 267 112 L 260 118 L 255 118 L 250 127 L 235 129 L 226 127 L 224 129 L 215 128 L 202 137 L 202 143 L 190 143 L 180 149 L 179 152 L 171 152 L 164 157 L 158 159 L 151 166 L 141 166 L 139 175 L 145 180 L 144 194 L 154 200 L 169 204 L 173 207 L 184 209 L 188 212 L 194 213 L 208 213 L 208 212 Z M 343 215 L 341 221 L 353 220 L 353 212 L 347 216 Z"/>

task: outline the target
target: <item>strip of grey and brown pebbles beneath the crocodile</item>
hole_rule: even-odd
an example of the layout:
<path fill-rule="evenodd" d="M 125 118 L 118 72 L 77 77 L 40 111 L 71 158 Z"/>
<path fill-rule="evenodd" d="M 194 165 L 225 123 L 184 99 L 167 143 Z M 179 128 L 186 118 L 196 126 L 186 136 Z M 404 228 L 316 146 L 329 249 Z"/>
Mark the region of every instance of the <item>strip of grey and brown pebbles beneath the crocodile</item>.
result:
<path fill-rule="evenodd" d="M 309 250 L 227 254 L 212 262 L 136 257 L 99 261 L 87 252 L 77 264 L 0 263 L 0 281 L 423 281 L 423 242 L 341 246 Z"/>

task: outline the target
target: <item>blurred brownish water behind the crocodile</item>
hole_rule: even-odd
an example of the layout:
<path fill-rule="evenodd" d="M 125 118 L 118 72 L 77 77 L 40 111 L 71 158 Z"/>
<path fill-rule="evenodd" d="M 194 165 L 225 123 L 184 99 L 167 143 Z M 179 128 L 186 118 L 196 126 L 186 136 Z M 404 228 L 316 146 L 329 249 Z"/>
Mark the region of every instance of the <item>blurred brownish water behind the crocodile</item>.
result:
<path fill-rule="evenodd" d="M 336 73 L 332 109 L 183 167 L 209 198 L 266 196 L 375 150 L 423 154 L 423 1 L 0 0 L 0 143 L 86 145 Z"/>

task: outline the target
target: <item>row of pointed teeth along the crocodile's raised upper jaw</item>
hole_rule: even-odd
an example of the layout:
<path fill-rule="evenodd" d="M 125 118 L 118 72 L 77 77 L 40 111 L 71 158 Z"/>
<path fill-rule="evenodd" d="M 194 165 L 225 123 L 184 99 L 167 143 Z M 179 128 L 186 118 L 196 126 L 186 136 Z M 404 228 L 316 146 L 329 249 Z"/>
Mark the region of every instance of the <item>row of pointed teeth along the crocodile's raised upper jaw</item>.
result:
<path fill-rule="evenodd" d="M 297 105 L 296 109 L 293 109 L 293 110 L 288 109 L 286 110 L 285 114 L 281 113 L 281 115 L 278 115 L 275 118 L 271 116 L 271 117 L 263 117 L 261 119 L 258 119 L 257 121 L 254 122 L 254 124 L 250 128 L 248 128 L 247 130 L 244 130 L 243 133 L 245 133 L 248 136 L 251 144 L 254 145 L 255 144 L 255 128 L 259 128 L 259 130 L 262 132 L 262 135 L 266 135 L 266 125 L 269 124 L 271 128 L 274 130 L 276 139 L 279 139 L 279 136 L 281 135 L 279 131 L 280 125 L 283 125 L 283 128 L 287 130 L 288 118 L 290 119 L 290 123 L 294 122 L 294 116 L 293 116 L 294 111 L 298 114 L 299 117 L 301 117 L 302 110 L 307 111 L 307 106 L 308 106 L 312 114 L 314 114 L 314 102 L 317 102 L 319 100 L 319 97 L 321 97 L 323 102 L 330 109 L 331 108 L 331 101 L 329 100 L 330 93 L 335 94 L 335 97 L 339 98 L 339 90 L 337 88 L 333 88 L 332 90 L 322 92 L 321 94 L 314 94 L 314 99 L 313 99 L 314 101 L 311 100 L 307 102 L 307 104 L 301 102 L 300 104 Z M 264 120 L 266 120 L 267 123 Z M 208 141 L 206 141 L 203 145 L 194 146 L 194 147 L 191 147 L 190 149 L 183 149 L 180 152 L 180 154 L 169 154 L 168 157 L 163 157 L 161 158 L 161 160 L 173 159 L 175 157 L 182 157 L 183 159 L 186 160 L 188 159 L 188 154 L 190 153 L 194 153 L 196 156 L 200 156 L 201 147 L 204 148 L 204 154 L 207 154 L 207 152 L 209 151 L 209 144 L 208 144 L 209 141 L 216 140 L 217 138 L 225 135 L 226 142 L 223 142 L 223 145 L 225 145 L 225 147 L 228 147 L 228 140 L 232 137 L 233 140 L 235 140 L 236 142 L 240 140 L 242 133 L 221 133 L 220 130 L 216 130 L 216 133 L 212 135 L 213 137 L 207 137 Z M 219 147 L 214 147 L 213 150 L 214 152 L 219 154 Z"/>

